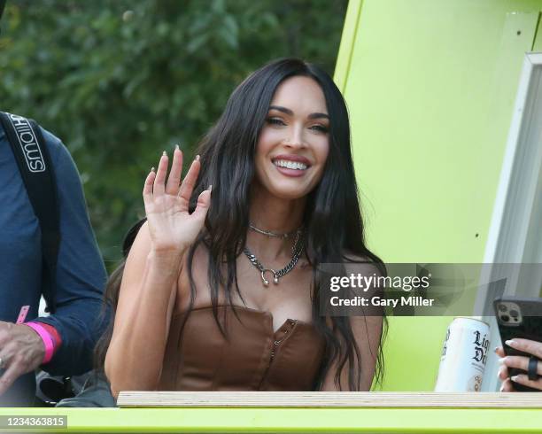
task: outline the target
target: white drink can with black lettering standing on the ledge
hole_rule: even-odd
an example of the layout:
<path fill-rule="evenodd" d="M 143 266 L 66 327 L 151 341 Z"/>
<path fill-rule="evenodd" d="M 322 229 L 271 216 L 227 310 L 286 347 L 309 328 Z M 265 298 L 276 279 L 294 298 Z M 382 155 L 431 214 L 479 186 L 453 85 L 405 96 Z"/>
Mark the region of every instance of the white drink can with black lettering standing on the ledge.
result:
<path fill-rule="evenodd" d="M 487 322 L 454 318 L 446 331 L 435 391 L 481 391 L 489 337 Z"/>

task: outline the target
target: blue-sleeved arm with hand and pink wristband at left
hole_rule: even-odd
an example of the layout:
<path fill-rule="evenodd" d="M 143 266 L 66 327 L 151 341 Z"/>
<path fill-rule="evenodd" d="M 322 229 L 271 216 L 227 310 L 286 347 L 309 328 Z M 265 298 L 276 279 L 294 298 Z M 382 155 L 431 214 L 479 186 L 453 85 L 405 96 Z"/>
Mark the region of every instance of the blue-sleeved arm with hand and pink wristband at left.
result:
<path fill-rule="evenodd" d="M 58 190 L 61 240 L 51 291 L 57 310 L 49 317 L 28 318 L 30 324 L 0 322 L 0 396 L 19 376 L 40 365 L 53 375 L 88 371 L 101 329 L 105 267 L 90 228 L 79 174 L 58 138 L 44 130 L 43 136 Z M 35 288 L 36 296 L 39 290 Z"/>

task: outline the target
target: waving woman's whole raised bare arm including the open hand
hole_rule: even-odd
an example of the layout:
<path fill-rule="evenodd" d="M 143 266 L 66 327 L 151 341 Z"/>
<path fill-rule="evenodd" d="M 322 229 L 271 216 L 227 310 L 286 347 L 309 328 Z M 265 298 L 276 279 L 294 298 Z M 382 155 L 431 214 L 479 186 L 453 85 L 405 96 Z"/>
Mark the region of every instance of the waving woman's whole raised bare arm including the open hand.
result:
<path fill-rule="evenodd" d="M 153 390 L 158 386 L 177 279 L 184 253 L 204 226 L 211 189 L 189 212 L 200 163 L 192 162 L 181 186 L 182 152 L 174 151 L 166 182 L 166 152 L 158 171 L 143 187 L 147 221 L 132 245 L 120 284 L 112 340 L 105 356 L 105 375 L 113 396 L 120 391 Z"/>

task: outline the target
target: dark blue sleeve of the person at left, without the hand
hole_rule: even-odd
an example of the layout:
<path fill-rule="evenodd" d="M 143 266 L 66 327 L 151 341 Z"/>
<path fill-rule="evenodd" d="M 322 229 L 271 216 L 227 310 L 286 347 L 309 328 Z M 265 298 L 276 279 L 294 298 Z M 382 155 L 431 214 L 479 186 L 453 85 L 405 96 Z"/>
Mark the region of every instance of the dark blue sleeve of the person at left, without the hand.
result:
<path fill-rule="evenodd" d="M 100 317 L 105 267 L 74 160 L 55 136 L 44 130 L 43 136 L 49 145 L 58 190 L 60 245 L 56 287 L 52 291 L 57 310 L 31 321 L 49 325 L 60 338 L 43 370 L 53 375 L 78 375 L 92 368 L 94 345 L 105 323 Z"/>

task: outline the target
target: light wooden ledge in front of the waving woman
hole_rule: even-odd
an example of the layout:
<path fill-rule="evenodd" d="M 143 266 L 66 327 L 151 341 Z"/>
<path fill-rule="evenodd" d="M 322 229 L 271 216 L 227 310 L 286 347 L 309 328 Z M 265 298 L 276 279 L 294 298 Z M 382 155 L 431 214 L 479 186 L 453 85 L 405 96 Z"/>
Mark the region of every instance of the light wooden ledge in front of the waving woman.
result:
<path fill-rule="evenodd" d="M 121 391 L 119 407 L 542 408 L 538 392 Z"/>

